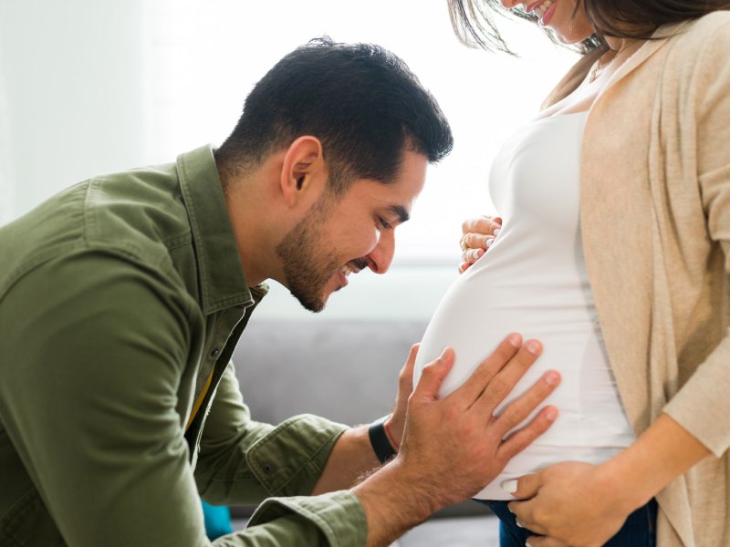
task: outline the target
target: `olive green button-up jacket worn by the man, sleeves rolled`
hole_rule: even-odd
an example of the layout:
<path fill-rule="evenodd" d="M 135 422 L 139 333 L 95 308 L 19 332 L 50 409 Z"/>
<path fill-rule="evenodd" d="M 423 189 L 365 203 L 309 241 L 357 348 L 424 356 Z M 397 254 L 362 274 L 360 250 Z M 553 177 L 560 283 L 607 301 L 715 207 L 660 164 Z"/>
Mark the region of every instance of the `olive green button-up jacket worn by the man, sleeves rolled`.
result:
<path fill-rule="evenodd" d="M 210 544 L 199 493 L 279 497 L 214 545 L 364 544 L 353 494 L 307 497 L 345 427 L 244 405 L 229 359 L 266 290 L 210 147 L 0 229 L 0 546 Z"/>

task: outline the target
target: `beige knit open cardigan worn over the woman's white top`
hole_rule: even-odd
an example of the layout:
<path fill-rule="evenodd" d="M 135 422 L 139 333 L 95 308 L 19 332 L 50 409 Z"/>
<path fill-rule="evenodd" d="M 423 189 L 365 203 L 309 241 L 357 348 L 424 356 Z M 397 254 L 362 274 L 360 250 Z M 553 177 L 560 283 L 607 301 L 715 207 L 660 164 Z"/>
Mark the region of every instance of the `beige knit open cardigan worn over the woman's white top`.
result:
<path fill-rule="evenodd" d="M 664 27 L 589 113 L 580 222 L 620 395 L 714 452 L 657 496 L 658 543 L 730 545 L 730 12 Z M 585 77 L 579 61 L 546 103 Z"/>

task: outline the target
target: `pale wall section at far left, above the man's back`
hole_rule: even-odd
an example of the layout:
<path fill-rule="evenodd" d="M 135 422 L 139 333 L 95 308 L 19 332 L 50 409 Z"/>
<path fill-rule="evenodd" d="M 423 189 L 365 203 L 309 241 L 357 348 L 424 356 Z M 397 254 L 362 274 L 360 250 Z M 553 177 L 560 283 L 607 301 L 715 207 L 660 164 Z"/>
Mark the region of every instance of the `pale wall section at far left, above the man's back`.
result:
<path fill-rule="evenodd" d="M 141 0 L 0 0 L 0 222 L 146 158 Z"/>

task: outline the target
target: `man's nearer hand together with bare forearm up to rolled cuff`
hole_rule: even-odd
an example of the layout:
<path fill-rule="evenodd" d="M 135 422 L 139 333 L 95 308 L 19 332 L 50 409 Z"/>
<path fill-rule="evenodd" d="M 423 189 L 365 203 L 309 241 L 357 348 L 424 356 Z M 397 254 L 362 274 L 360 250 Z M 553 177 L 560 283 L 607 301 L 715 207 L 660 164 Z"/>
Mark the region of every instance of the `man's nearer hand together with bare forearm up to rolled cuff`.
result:
<path fill-rule="evenodd" d="M 510 335 L 461 387 L 443 398 L 438 392 L 454 365 L 454 351 L 444 350 L 423 367 L 408 400 L 400 453 L 352 489 L 368 518 L 369 545 L 388 544 L 434 511 L 470 498 L 550 427 L 558 416 L 553 407 L 543 408 L 506 438 L 558 386 L 555 371 L 543 375 L 498 417 L 493 415 L 541 351 L 536 340 L 522 346 L 519 335 Z"/>

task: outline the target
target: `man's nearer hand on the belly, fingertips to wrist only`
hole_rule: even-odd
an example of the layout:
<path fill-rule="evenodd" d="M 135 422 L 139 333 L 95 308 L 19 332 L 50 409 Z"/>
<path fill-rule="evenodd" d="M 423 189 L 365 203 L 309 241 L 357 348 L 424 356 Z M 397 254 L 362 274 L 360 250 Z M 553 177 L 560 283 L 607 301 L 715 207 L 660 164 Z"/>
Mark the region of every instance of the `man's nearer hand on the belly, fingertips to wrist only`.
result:
<path fill-rule="evenodd" d="M 521 346 L 519 335 L 511 335 L 443 399 L 438 392 L 454 365 L 454 351 L 445 349 L 439 359 L 423 367 L 409 400 L 401 454 L 406 468 L 423 471 L 428 481 L 437 482 L 429 488 L 443 504 L 464 501 L 482 490 L 557 418 L 556 408 L 545 408 L 527 427 L 505 439 L 557 387 L 555 371 L 547 372 L 498 417 L 493 415 L 541 352 L 536 340 Z"/>

